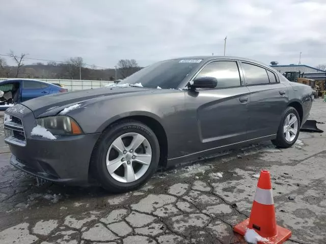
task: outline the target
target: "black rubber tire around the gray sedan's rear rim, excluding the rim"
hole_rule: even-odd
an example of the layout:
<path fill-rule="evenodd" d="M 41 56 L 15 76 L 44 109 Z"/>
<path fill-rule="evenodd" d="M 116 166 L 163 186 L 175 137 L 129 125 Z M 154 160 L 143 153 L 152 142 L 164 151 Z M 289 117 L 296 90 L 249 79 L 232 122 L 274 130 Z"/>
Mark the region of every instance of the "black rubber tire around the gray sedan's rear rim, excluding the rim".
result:
<path fill-rule="evenodd" d="M 294 140 L 291 142 L 289 142 L 285 139 L 285 136 L 283 133 L 283 126 L 285 123 L 285 119 L 290 113 L 293 113 L 296 116 L 296 119 L 298 121 L 298 130 L 297 130 Z M 298 112 L 293 107 L 287 107 L 283 113 L 281 123 L 279 125 L 279 129 L 277 132 L 277 137 L 276 137 L 276 139 L 271 140 L 271 143 L 273 143 L 274 145 L 276 145 L 277 147 L 280 147 L 280 148 L 288 148 L 288 147 L 292 146 L 296 142 L 297 137 L 299 136 L 300 128 L 301 128 L 301 121 L 300 121 L 300 116 L 299 116 Z"/>

